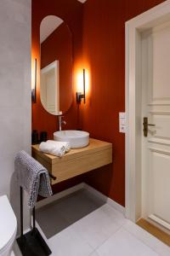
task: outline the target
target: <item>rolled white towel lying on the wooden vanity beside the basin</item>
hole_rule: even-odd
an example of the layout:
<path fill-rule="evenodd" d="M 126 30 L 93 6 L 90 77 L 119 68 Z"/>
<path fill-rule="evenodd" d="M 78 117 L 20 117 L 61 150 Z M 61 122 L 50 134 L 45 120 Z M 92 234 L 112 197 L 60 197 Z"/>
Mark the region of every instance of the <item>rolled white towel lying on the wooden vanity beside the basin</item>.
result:
<path fill-rule="evenodd" d="M 68 152 L 70 148 L 70 143 L 54 141 L 47 141 L 46 143 L 41 143 L 39 146 L 40 151 L 43 153 L 54 154 L 59 157 L 65 154 L 65 152 Z"/>

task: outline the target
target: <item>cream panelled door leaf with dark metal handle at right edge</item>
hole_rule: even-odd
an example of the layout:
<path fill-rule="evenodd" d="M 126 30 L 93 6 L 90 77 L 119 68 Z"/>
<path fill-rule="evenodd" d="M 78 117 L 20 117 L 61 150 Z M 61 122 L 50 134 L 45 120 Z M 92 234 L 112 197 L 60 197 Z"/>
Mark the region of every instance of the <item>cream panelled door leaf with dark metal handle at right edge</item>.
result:
<path fill-rule="evenodd" d="M 143 217 L 170 230 L 170 23 L 141 42 L 142 116 L 155 125 L 144 125 L 147 137 L 142 131 Z"/>

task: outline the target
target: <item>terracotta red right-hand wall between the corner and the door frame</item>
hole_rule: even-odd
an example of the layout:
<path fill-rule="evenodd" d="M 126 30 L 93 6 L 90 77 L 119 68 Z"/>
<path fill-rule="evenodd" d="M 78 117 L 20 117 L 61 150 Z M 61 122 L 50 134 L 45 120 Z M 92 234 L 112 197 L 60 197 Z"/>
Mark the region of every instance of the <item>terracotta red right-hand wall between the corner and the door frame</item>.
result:
<path fill-rule="evenodd" d="M 83 63 L 91 76 L 82 108 L 82 129 L 113 143 L 113 166 L 89 173 L 87 182 L 125 205 L 125 136 L 118 131 L 125 110 L 125 22 L 161 0 L 88 0 L 83 9 Z"/>

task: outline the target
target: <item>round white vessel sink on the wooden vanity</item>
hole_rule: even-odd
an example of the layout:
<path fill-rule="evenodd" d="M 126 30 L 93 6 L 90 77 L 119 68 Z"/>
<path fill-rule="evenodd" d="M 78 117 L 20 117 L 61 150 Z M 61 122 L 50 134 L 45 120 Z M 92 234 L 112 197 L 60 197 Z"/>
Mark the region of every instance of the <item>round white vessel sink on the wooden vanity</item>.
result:
<path fill-rule="evenodd" d="M 68 142 L 71 148 L 84 148 L 89 143 L 89 133 L 87 131 L 56 131 L 54 141 Z"/>

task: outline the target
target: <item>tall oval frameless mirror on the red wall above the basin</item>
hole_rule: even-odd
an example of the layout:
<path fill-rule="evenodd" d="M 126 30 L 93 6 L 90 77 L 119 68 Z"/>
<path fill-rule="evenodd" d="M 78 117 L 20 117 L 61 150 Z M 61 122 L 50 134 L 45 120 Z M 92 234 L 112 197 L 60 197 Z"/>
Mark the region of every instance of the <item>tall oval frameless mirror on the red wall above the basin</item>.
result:
<path fill-rule="evenodd" d="M 40 98 L 48 113 L 65 113 L 72 102 L 72 35 L 64 20 L 48 15 L 40 26 Z"/>

